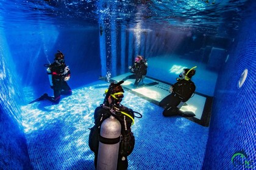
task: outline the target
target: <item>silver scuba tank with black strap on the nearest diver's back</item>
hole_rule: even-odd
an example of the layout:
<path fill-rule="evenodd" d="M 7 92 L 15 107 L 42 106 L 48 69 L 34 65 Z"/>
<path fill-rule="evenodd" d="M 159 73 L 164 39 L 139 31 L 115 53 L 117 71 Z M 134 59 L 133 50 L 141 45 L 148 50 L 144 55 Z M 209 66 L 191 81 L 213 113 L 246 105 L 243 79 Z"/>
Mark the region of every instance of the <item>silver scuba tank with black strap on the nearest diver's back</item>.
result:
<path fill-rule="evenodd" d="M 112 115 L 101 124 L 97 170 L 117 168 L 121 124 Z"/>

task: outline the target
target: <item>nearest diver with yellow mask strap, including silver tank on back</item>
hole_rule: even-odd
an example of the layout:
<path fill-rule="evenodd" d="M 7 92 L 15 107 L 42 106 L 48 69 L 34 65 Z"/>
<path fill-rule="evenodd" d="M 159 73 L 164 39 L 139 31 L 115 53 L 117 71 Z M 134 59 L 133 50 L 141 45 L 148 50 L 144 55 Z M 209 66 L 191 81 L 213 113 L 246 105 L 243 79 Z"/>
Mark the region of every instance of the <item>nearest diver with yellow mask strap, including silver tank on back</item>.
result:
<path fill-rule="evenodd" d="M 102 166 L 112 167 L 112 169 L 115 169 L 113 168 L 113 164 L 115 164 L 114 167 L 116 167 L 116 169 L 128 168 L 127 156 L 132 153 L 135 144 L 135 138 L 133 137 L 131 126 L 134 123 L 134 113 L 139 113 L 134 112 L 132 109 L 121 104 L 124 97 L 124 90 L 121 86 L 122 83 L 124 83 L 124 81 L 120 81 L 116 84 L 111 83 L 108 89 L 105 90 L 103 104 L 94 110 L 94 126 L 90 128 L 89 146 L 91 151 L 94 152 L 94 166 L 96 169 L 104 169 Z M 105 137 L 106 134 L 112 134 L 108 133 L 107 130 L 104 129 L 104 124 L 107 124 L 105 121 L 109 123 L 108 119 L 111 117 L 112 121 L 113 117 L 115 117 L 115 120 L 118 120 L 121 124 L 119 127 L 116 126 L 116 123 L 115 126 L 113 124 L 108 124 L 108 127 L 112 127 L 111 129 L 120 130 L 121 134 L 119 132 L 117 141 L 113 141 L 114 139 Z M 102 135 L 104 135 L 104 137 Z M 107 149 L 113 148 L 113 145 L 116 143 L 119 143 L 119 146 L 116 146 L 114 149 L 110 149 L 111 154 L 104 155 L 105 151 L 103 151 L 103 148 L 105 148 L 104 144 L 106 143 L 108 144 L 108 146 L 106 146 Z M 114 152 L 116 149 L 117 152 Z M 117 160 L 113 160 L 113 155 L 116 155 L 115 158 Z M 104 161 L 102 161 L 102 159 Z"/>

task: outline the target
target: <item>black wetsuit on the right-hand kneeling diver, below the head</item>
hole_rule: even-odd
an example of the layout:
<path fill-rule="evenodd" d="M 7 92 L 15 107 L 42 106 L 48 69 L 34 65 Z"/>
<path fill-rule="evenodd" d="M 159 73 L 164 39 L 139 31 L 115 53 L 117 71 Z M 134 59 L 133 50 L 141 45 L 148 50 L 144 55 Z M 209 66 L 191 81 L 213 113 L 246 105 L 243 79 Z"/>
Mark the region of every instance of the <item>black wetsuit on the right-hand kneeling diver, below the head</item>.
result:
<path fill-rule="evenodd" d="M 178 115 L 179 109 L 177 106 L 181 101 L 188 101 L 196 90 L 196 86 L 191 80 L 177 80 L 177 83 L 173 84 L 172 87 L 172 93 L 159 103 L 160 106 L 165 108 L 163 111 L 165 117 Z"/>

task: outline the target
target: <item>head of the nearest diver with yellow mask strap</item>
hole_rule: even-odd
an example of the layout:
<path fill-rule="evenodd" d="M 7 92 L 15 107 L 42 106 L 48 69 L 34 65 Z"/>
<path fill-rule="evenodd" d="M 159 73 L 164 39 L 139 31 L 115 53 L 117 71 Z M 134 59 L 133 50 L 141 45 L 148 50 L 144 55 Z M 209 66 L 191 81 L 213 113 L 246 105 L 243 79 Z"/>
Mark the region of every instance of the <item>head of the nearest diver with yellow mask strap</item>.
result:
<path fill-rule="evenodd" d="M 108 106 L 110 104 L 120 104 L 121 101 L 124 98 L 124 89 L 120 85 L 123 81 L 120 81 L 119 83 L 111 83 L 107 90 L 105 90 L 105 99 L 104 104 L 107 104 Z"/>

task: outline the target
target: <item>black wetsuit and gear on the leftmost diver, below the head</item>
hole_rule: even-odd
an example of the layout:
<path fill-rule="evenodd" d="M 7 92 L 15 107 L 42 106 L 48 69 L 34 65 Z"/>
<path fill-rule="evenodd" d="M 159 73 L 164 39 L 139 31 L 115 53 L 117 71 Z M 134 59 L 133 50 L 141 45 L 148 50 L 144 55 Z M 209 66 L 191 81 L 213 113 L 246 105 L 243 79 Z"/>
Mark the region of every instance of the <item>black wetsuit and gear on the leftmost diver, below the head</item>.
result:
<path fill-rule="evenodd" d="M 54 103 L 59 103 L 60 95 L 71 95 L 72 90 L 64 78 L 70 76 L 70 70 L 64 75 L 66 64 L 52 63 L 49 68 L 52 74 L 52 89 L 54 90 Z"/>

